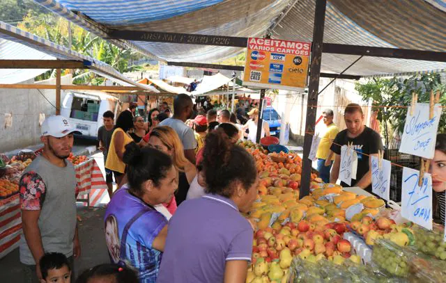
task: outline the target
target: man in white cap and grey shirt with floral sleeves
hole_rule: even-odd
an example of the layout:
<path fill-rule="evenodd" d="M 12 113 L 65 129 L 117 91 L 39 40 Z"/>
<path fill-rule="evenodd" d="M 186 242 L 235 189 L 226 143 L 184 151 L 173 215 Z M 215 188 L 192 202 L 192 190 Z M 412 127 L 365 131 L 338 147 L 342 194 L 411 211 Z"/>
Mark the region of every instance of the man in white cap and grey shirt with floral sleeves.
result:
<path fill-rule="evenodd" d="M 20 261 L 25 282 L 40 282 L 39 261 L 45 252 L 68 257 L 74 280 L 74 259 L 80 255 L 76 218 L 76 174 L 66 161 L 78 133 L 62 116 L 50 116 L 42 124 L 43 152 L 20 179 L 23 234 Z"/>

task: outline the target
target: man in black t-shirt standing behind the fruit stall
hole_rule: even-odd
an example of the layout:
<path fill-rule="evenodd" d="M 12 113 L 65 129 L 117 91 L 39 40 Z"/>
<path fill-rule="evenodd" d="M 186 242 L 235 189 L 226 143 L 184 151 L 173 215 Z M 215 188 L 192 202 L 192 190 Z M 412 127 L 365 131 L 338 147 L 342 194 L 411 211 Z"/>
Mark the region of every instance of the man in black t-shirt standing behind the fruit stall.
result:
<path fill-rule="evenodd" d="M 383 149 L 383 143 L 376 131 L 364 125 L 364 114 L 360 105 L 348 104 L 344 112 L 344 120 L 347 129 L 337 134 L 330 147 L 336 156 L 330 175 L 330 182 L 336 183 L 339 177 L 341 145 L 353 143 L 353 149 L 357 153 L 357 172 L 356 179 L 352 180 L 351 186 L 364 188 L 365 191 L 371 193 L 371 161 L 369 156 L 378 156 L 378 150 Z M 349 187 L 344 182 L 341 182 L 341 186 Z"/>

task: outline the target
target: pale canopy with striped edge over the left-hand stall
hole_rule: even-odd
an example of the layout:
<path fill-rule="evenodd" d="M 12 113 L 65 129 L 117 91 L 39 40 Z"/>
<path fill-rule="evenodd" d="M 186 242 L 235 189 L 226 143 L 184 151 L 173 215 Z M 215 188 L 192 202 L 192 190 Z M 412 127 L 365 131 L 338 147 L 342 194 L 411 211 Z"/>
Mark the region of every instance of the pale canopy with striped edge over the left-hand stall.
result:
<path fill-rule="evenodd" d="M 137 86 L 151 92 L 159 92 L 153 86 L 136 83 L 126 76 L 116 71 L 114 67 L 100 60 L 79 54 L 54 42 L 39 38 L 15 26 L 10 26 L 4 22 L 0 22 L 0 59 L 15 60 L 78 60 L 91 65 L 91 71 L 100 76 L 110 79 L 122 86 Z M 30 72 L 31 71 L 31 72 Z M 20 70 L 20 69 L 3 69 L 0 70 L 1 83 L 18 83 L 32 79 L 46 70 Z M 4 75 L 4 76 L 3 76 Z"/>

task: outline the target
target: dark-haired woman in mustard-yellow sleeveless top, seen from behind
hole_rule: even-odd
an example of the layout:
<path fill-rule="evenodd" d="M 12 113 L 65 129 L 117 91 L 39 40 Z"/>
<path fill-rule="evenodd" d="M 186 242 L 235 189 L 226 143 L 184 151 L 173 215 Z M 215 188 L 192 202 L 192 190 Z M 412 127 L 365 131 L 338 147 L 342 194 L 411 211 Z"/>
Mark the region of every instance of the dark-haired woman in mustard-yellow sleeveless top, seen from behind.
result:
<path fill-rule="evenodd" d="M 105 168 L 113 171 L 118 186 L 121 185 L 125 174 L 125 163 L 123 161 L 125 145 L 133 141 L 132 137 L 128 134 L 128 131 L 132 127 L 132 113 L 130 111 L 121 112 L 114 126 L 112 140 L 110 141 L 109 152 L 107 154 L 107 162 L 105 163 Z"/>

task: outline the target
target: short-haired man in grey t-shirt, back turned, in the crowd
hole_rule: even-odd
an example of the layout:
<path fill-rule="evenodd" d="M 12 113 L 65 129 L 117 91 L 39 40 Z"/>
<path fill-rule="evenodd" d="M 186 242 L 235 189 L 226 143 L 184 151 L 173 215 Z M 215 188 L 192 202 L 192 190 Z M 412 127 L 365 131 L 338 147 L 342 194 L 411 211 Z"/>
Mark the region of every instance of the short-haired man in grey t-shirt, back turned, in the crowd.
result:
<path fill-rule="evenodd" d="M 194 130 L 185 124 L 193 113 L 192 106 L 194 104 L 189 95 L 177 95 L 174 99 L 174 117 L 160 122 L 160 126 L 169 126 L 176 131 L 183 143 L 184 155 L 192 164 L 195 164 L 197 140 L 195 140 Z"/>

